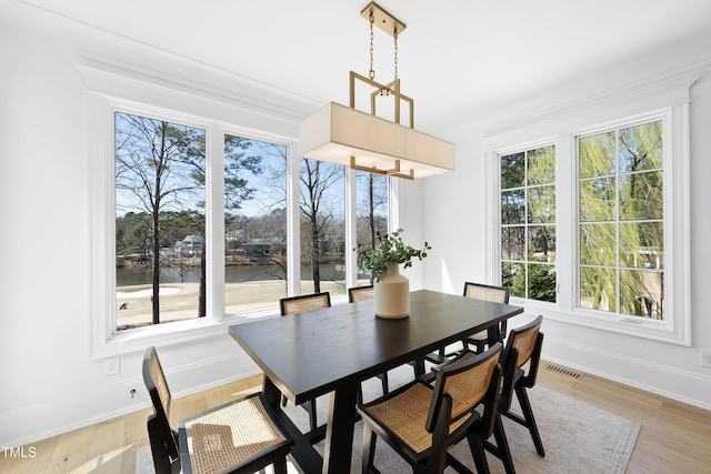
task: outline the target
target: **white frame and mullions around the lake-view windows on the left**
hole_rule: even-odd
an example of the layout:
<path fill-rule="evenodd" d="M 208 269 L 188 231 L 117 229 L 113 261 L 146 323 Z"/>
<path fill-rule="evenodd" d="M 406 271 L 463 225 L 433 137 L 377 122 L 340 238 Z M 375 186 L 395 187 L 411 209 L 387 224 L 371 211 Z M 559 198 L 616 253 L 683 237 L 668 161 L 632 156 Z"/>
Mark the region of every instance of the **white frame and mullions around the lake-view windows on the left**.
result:
<path fill-rule="evenodd" d="M 216 101 L 213 90 L 186 89 L 160 78 L 136 80 L 134 72 L 116 73 L 102 67 L 81 65 L 87 80 L 86 90 L 86 154 L 89 168 L 87 199 L 90 222 L 87 229 L 90 250 L 88 262 L 89 324 L 91 335 L 89 357 L 122 355 L 141 351 L 146 345 L 182 344 L 206 337 L 223 336 L 226 327 L 240 322 L 278 315 L 278 310 L 257 310 L 227 314 L 224 309 L 224 268 L 216 255 L 224 254 L 224 134 L 268 141 L 287 149 L 287 259 L 288 293 L 300 292 L 299 259 L 299 172 L 300 157 L 296 154 L 298 121 L 290 112 L 273 111 L 266 118 L 253 103 L 242 103 L 234 97 Z M 248 110 L 251 109 L 251 110 Z M 116 192 L 114 192 L 114 112 L 138 114 L 199 127 L 206 130 L 206 242 L 208 249 L 207 315 L 206 317 L 149 325 L 131 330 L 116 329 Z M 287 119 L 288 117 L 288 119 Z M 284 127 L 284 122 L 291 125 Z M 254 128 L 246 127 L 249 123 Z M 262 130 L 260 130 L 262 129 Z M 281 133 L 266 130 L 276 130 Z M 346 170 L 346 224 L 356 219 L 356 203 L 348 198 L 354 193 L 356 173 Z M 392 182 L 392 181 L 390 181 Z M 389 185 L 389 196 L 394 186 Z M 395 200 L 390 199 L 392 215 Z M 389 221 L 391 221 L 389 216 Z M 352 223 L 354 226 L 354 221 Z M 347 246 L 350 249 L 350 246 Z M 352 255 L 351 255 L 352 254 Z M 347 252 L 347 284 L 356 282 L 354 252 Z M 347 297 L 343 296 L 343 301 Z"/>

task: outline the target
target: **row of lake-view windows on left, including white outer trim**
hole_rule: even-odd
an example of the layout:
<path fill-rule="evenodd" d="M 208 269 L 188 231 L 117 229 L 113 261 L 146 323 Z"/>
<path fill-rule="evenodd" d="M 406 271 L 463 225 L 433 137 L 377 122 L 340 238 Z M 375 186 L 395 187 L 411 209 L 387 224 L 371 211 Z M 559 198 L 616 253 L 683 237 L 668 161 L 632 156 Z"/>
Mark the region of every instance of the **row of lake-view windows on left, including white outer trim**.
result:
<path fill-rule="evenodd" d="M 92 357 L 223 336 L 226 323 L 276 315 L 280 297 L 318 286 L 346 301 L 347 282 L 357 281 L 361 179 L 294 155 L 292 109 L 210 88 L 176 90 L 160 78 L 137 81 L 96 64 L 80 70 Z M 388 179 L 375 182 L 387 194 Z M 393 209 L 384 202 L 373 212 L 387 229 Z M 307 215 L 316 216 L 312 241 Z"/>

